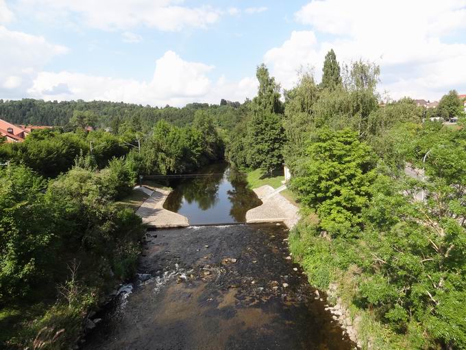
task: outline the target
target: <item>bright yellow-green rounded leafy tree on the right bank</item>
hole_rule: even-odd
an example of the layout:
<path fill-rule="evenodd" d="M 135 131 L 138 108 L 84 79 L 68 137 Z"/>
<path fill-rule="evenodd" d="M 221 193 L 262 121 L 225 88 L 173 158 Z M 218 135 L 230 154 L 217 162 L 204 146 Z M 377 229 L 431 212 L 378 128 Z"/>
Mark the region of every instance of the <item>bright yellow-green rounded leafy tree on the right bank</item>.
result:
<path fill-rule="evenodd" d="M 305 204 L 317 209 L 321 227 L 332 234 L 348 233 L 360 224 L 376 178 L 371 148 L 349 129 L 322 129 L 291 180 Z"/>

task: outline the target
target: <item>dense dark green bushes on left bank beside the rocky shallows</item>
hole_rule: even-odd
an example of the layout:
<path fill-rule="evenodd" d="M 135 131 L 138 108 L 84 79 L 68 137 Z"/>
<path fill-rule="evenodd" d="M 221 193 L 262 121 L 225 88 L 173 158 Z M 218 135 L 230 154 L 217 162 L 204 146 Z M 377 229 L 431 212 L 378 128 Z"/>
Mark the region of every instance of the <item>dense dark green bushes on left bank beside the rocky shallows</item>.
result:
<path fill-rule="evenodd" d="M 37 340 L 62 349 L 103 291 L 134 273 L 143 226 L 114 204 L 133 183 L 122 159 L 100 172 L 74 167 L 48 182 L 21 165 L 0 170 L 0 305 L 60 295 L 34 322 L 16 321 L 10 345 Z"/>

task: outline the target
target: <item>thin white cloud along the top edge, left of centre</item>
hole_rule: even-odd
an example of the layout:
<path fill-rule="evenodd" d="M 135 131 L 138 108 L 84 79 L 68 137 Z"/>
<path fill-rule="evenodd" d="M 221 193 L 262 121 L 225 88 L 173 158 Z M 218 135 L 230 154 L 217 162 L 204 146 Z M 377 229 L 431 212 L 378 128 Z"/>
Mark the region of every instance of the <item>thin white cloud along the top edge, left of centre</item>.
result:
<path fill-rule="evenodd" d="M 205 28 L 219 20 L 221 11 L 209 6 L 188 8 L 180 0 L 22 0 L 36 16 L 64 21 L 84 21 L 101 30 L 128 30 L 145 25 L 165 32 L 185 27 Z"/>

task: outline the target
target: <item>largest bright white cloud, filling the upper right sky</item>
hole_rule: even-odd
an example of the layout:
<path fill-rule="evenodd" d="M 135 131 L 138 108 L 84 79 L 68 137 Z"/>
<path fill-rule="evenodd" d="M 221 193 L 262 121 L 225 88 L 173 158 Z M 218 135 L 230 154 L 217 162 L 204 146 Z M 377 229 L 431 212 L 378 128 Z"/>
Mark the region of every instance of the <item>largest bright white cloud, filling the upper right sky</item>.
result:
<path fill-rule="evenodd" d="M 381 88 L 395 98 L 435 99 L 449 89 L 466 90 L 466 45 L 445 39 L 464 36 L 465 0 L 320 0 L 304 5 L 295 18 L 310 25 L 317 38 L 326 34 L 326 40 L 312 47 L 299 46 L 293 34 L 290 39 L 293 52 L 287 56 L 315 57 L 317 72 L 326 51 L 333 48 L 340 61 L 365 58 L 380 64 Z M 283 58 L 275 56 L 271 62 L 280 74 Z"/>

